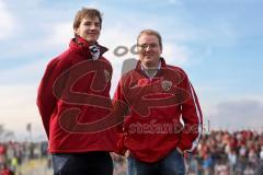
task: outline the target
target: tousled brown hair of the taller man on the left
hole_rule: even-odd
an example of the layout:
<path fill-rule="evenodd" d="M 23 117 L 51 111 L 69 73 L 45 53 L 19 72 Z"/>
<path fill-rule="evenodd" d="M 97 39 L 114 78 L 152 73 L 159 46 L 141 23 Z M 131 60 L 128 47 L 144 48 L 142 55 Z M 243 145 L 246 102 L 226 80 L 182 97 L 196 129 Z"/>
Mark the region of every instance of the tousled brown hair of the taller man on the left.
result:
<path fill-rule="evenodd" d="M 102 13 L 96 10 L 96 9 L 91 9 L 91 8 L 82 8 L 81 10 L 79 10 L 75 16 L 75 21 L 73 21 L 73 30 L 79 28 L 81 20 L 84 18 L 95 18 L 98 16 L 100 20 L 100 28 L 102 26 Z"/>

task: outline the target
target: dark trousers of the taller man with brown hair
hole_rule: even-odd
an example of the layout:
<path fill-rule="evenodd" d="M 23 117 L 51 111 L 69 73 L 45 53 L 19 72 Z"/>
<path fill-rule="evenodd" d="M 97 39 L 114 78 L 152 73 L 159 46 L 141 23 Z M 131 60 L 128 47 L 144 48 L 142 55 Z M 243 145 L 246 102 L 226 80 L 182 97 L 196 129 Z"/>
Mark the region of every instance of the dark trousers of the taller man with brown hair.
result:
<path fill-rule="evenodd" d="M 55 153 L 54 175 L 113 175 L 108 152 Z"/>

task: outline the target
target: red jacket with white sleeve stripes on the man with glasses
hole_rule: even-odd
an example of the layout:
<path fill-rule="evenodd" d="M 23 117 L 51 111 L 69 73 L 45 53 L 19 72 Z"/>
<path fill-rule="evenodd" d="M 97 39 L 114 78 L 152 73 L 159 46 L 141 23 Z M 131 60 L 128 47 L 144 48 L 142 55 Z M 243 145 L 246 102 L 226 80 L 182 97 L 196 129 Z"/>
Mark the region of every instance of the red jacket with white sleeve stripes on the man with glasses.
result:
<path fill-rule="evenodd" d="M 138 62 L 136 69 L 121 79 L 114 101 L 129 108 L 118 152 L 127 149 L 140 161 L 156 162 L 176 147 L 183 151 L 196 148 L 203 117 L 194 89 L 182 69 L 165 65 L 161 58 L 160 70 L 150 79 Z"/>

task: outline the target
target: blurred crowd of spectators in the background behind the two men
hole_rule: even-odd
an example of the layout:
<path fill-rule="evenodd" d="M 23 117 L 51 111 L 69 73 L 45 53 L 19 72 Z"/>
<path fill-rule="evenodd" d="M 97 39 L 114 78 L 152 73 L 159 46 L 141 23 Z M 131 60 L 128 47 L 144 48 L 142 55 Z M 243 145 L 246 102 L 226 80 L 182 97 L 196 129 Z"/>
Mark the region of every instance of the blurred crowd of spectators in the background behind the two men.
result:
<path fill-rule="evenodd" d="M 0 142 L 0 175 L 20 175 L 31 159 L 47 159 L 47 143 Z M 113 156 L 114 175 L 126 175 L 126 160 Z M 251 130 L 204 133 L 194 154 L 185 154 L 187 175 L 263 175 L 263 133 Z"/>

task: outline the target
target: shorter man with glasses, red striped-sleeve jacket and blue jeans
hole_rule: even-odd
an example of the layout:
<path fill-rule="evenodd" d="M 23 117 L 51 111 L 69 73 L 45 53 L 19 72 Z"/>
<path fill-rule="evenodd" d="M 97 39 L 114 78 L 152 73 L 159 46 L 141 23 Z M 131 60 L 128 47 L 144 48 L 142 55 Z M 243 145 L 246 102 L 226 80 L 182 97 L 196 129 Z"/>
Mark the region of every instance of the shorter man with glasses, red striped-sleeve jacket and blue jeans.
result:
<path fill-rule="evenodd" d="M 128 175 L 185 174 L 183 153 L 196 148 L 202 132 L 197 96 L 185 72 L 161 58 L 158 32 L 141 31 L 137 48 L 137 67 L 122 77 L 114 95 L 128 112 L 118 151 L 129 152 Z"/>

